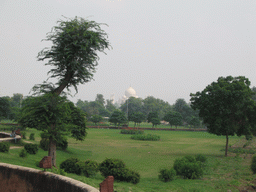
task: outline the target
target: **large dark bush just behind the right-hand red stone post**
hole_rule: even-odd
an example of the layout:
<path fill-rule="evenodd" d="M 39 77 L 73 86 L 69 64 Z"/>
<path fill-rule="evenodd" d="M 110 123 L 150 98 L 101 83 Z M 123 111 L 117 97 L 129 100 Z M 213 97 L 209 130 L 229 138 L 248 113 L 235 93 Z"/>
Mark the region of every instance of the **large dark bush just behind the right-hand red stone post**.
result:
<path fill-rule="evenodd" d="M 140 181 L 139 173 L 125 168 L 119 159 L 106 159 L 99 165 L 99 170 L 104 177 L 114 176 L 117 181 L 126 181 L 136 184 Z"/>

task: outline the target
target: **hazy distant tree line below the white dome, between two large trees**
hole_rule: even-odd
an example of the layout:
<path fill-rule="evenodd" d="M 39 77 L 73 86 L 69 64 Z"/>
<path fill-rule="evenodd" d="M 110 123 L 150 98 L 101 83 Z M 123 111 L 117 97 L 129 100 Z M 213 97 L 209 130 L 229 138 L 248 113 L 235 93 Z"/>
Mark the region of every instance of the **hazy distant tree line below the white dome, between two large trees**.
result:
<path fill-rule="evenodd" d="M 184 99 L 177 99 L 174 105 L 170 105 L 168 102 L 153 96 L 145 99 L 130 97 L 118 107 L 111 100 L 106 100 L 105 102 L 102 94 L 97 94 L 95 101 L 82 101 L 79 99 L 76 106 L 83 110 L 88 119 L 95 123 L 99 122 L 97 120 L 102 119 L 100 116 L 116 116 L 117 112 L 115 110 L 119 109 L 126 114 L 127 121 L 133 121 L 135 126 L 142 121 L 151 122 L 153 126 L 156 126 L 160 123 L 160 120 L 169 122 L 171 126 L 183 124 L 199 126 L 200 124 L 198 111 L 193 110 Z"/>

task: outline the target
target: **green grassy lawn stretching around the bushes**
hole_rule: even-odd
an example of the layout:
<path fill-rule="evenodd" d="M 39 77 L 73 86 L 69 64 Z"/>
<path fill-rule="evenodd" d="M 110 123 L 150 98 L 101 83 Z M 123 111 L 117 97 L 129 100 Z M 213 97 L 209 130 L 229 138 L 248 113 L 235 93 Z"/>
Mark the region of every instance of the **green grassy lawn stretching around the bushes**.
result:
<path fill-rule="evenodd" d="M 27 137 L 35 133 L 39 143 L 39 132 L 27 130 Z M 224 157 L 225 137 L 215 136 L 206 132 L 184 131 L 145 131 L 146 134 L 156 134 L 160 141 L 137 141 L 130 139 L 130 135 L 120 134 L 120 130 L 88 129 L 85 141 L 80 142 L 69 138 L 67 151 L 57 151 L 57 165 L 69 157 L 81 160 L 95 160 L 102 162 L 105 158 L 122 159 L 126 166 L 140 173 L 140 183 L 134 185 L 125 182 L 115 182 L 116 191 L 125 192 L 203 192 L 203 191 L 239 191 L 252 189 L 255 176 L 250 171 L 251 154 L 229 153 Z M 27 140 L 28 141 L 28 140 Z M 230 137 L 230 145 L 243 146 L 246 141 L 243 137 Z M 254 140 L 248 147 L 255 147 Z M 15 145 L 15 144 L 13 144 Z M 47 155 L 46 151 L 39 150 L 36 155 L 20 158 L 22 148 L 10 149 L 9 153 L 1 153 L 0 162 L 36 168 L 35 162 Z M 158 179 L 161 168 L 171 168 L 176 158 L 185 155 L 204 154 L 208 158 L 204 177 L 197 180 L 177 178 L 168 183 Z M 93 178 L 86 178 L 75 174 L 69 177 L 99 188 L 104 178 L 98 173 Z"/>

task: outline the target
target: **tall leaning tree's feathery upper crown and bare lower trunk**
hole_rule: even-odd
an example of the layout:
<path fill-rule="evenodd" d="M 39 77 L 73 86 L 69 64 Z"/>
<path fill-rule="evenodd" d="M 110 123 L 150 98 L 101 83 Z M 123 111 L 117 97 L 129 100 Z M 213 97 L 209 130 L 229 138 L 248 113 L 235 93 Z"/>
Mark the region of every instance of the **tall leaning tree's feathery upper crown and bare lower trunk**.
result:
<path fill-rule="evenodd" d="M 49 78 L 57 78 L 56 86 L 44 83 L 36 86 L 42 91 L 45 87 L 51 87 L 53 97 L 58 97 L 65 88 L 69 90 L 89 82 L 98 65 L 97 52 L 103 52 L 109 48 L 107 34 L 101 29 L 101 24 L 75 17 L 67 21 L 59 20 L 47 34 L 46 41 L 51 41 L 52 46 L 43 49 L 38 54 L 39 61 L 47 61 L 45 65 L 52 66 L 48 74 Z M 53 99 L 54 100 L 54 99 Z M 51 129 L 55 129 L 54 124 Z M 53 131 L 54 133 L 54 131 Z M 52 164 L 56 166 L 56 140 L 50 137 L 49 153 Z"/>

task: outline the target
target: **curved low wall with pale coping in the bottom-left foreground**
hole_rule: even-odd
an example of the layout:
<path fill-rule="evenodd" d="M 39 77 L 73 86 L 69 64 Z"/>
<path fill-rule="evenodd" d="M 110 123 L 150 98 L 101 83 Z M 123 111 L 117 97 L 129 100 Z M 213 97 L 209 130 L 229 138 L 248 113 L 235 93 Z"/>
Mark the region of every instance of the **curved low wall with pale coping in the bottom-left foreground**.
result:
<path fill-rule="evenodd" d="M 28 167 L 0 163 L 0 192 L 99 192 L 83 182 Z"/>

